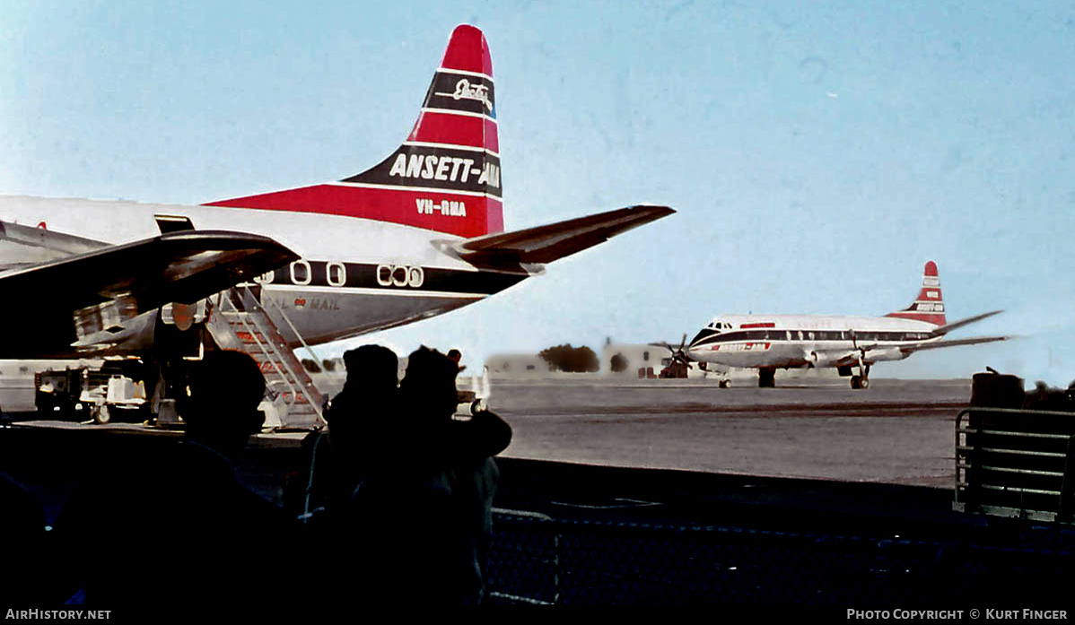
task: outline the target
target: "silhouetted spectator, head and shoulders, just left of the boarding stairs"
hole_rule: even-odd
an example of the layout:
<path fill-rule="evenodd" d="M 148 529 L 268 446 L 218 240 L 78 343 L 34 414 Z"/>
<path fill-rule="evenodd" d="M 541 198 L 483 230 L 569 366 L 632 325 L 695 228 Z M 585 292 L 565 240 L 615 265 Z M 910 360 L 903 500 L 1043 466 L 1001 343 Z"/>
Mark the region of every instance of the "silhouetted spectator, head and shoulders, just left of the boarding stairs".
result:
<path fill-rule="evenodd" d="M 192 364 L 188 391 L 183 441 L 86 480 L 57 521 L 87 605 L 246 610 L 287 575 L 283 513 L 240 483 L 231 463 L 264 421 L 257 363 L 211 352 Z"/>

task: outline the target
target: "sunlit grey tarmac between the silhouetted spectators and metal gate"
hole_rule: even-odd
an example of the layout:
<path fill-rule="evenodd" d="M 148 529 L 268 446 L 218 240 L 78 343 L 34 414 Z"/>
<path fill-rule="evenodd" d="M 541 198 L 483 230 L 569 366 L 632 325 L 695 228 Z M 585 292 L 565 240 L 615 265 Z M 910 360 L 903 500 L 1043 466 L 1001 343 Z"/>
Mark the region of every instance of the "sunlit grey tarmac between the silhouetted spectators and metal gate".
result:
<path fill-rule="evenodd" d="M 510 457 L 951 488 L 970 380 L 871 382 L 497 380 L 490 407 Z"/>

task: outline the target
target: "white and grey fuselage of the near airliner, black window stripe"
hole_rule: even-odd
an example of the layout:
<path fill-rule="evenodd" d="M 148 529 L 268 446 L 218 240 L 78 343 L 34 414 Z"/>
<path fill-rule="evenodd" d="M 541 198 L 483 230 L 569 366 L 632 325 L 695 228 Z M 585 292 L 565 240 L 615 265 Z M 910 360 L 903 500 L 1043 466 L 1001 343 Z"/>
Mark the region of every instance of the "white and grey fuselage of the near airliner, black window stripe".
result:
<path fill-rule="evenodd" d="M 266 309 L 293 345 L 291 324 L 316 345 L 446 312 L 527 277 L 479 271 L 452 258 L 431 245 L 427 230 L 340 215 L 24 197 L 0 198 L 0 215 L 110 244 L 159 234 L 158 215 L 187 217 L 199 230 L 272 237 L 303 257 L 255 280 L 269 300 Z M 443 233 L 434 238 L 460 239 Z"/>

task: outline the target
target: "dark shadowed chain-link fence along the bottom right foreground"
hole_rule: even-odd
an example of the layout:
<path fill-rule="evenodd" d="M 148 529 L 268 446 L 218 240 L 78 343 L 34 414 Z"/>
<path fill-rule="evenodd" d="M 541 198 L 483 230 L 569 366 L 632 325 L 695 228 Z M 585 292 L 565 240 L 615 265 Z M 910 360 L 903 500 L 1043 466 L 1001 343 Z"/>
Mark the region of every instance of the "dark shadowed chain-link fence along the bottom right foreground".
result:
<path fill-rule="evenodd" d="M 503 510 L 494 530 L 488 600 L 496 604 L 950 607 L 1056 600 L 1075 573 L 1071 537 L 1055 533 L 1013 547 Z"/>

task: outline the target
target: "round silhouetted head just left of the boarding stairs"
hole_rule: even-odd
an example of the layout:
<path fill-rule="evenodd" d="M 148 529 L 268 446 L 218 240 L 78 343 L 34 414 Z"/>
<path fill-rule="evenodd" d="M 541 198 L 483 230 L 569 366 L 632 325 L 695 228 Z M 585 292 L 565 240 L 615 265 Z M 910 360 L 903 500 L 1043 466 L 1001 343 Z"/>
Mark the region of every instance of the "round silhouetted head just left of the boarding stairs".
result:
<path fill-rule="evenodd" d="M 266 380 L 258 363 L 241 351 L 214 351 L 191 365 L 182 415 L 187 437 L 228 454 L 261 430 L 258 410 Z"/>

